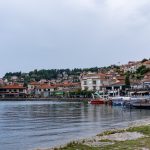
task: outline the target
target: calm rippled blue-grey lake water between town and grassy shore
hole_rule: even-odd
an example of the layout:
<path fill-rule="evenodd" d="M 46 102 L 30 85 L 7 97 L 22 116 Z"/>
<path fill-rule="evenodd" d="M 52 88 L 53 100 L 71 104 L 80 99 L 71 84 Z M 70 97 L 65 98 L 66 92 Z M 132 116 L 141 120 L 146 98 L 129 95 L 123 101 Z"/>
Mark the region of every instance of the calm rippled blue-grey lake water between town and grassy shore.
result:
<path fill-rule="evenodd" d="M 0 102 L 0 150 L 52 147 L 149 116 L 150 110 L 84 103 Z"/>

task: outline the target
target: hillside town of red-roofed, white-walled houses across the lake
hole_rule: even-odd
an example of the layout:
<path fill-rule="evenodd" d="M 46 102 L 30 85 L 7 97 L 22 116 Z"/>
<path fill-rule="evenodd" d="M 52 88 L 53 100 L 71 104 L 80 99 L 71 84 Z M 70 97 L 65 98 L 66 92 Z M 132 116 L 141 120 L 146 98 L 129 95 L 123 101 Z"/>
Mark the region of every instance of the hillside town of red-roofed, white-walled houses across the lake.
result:
<path fill-rule="evenodd" d="M 29 75 L 23 73 L 25 77 Z M 58 73 L 56 78 L 28 82 L 13 73 L 0 79 L 0 98 L 90 97 L 92 92 L 109 95 L 150 94 L 150 60 L 129 61 L 123 65 Z"/>

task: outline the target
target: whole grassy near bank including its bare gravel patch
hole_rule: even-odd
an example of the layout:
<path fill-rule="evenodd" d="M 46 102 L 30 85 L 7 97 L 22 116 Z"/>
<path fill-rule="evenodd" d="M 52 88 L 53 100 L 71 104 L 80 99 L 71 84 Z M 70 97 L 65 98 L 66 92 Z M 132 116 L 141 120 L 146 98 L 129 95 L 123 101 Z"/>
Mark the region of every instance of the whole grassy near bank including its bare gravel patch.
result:
<path fill-rule="evenodd" d="M 121 137 L 118 139 L 118 137 Z M 149 150 L 150 125 L 111 130 L 91 139 L 71 142 L 49 150 Z"/>

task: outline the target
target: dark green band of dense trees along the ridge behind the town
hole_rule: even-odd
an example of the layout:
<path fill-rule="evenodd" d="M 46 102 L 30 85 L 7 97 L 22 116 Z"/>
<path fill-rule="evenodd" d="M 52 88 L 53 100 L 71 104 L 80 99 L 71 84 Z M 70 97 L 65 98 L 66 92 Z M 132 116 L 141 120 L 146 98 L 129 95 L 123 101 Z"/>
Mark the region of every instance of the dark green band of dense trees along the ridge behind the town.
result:
<path fill-rule="evenodd" d="M 18 78 L 23 78 L 25 82 L 35 80 L 40 81 L 41 79 L 58 79 L 59 77 L 62 78 L 64 76 L 71 76 L 73 75 L 74 78 L 79 76 L 82 72 L 98 72 L 99 68 L 85 68 L 85 69 L 50 69 L 50 70 L 34 70 L 30 71 L 29 73 L 22 73 L 22 72 L 9 72 L 6 73 L 4 78 L 10 80 L 12 76 L 17 76 Z"/>

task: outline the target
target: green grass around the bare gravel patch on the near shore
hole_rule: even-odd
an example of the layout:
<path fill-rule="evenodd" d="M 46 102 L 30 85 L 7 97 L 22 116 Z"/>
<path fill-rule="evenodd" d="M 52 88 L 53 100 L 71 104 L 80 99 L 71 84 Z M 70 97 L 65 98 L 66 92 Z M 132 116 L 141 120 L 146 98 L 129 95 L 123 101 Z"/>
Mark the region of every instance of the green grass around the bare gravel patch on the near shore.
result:
<path fill-rule="evenodd" d="M 103 147 L 90 147 L 87 145 L 84 145 L 85 143 L 77 143 L 77 142 L 71 142 L 67 146 L 63 148 L 59 148 L 57 150 L 141 150 L 142 148 L 148 148 L 150 149 L 150 126 L 139 126 L 139 127 L 132 127 L 128 128 L 126 130 L 113 130 L 113 131 L 107 131 L 99 136 L 103 135 L 109 135 L 109 134 L 115 134 L 115 133 L 121 133 L 121 132 L 139 132 L 145 135 L 143 138 L 139 138 L 137 140 L 127 140 L 127 141 L 113 141 L 113 145 L 107 145 Z M 100 140 L 99 142 L 112 142 L 110 140 Z"/>

